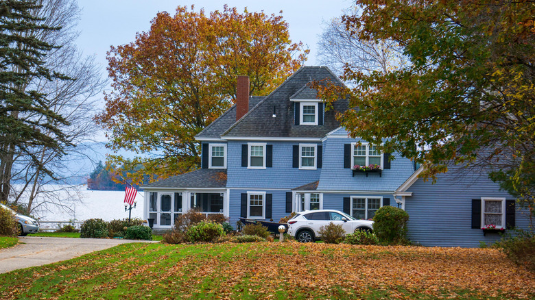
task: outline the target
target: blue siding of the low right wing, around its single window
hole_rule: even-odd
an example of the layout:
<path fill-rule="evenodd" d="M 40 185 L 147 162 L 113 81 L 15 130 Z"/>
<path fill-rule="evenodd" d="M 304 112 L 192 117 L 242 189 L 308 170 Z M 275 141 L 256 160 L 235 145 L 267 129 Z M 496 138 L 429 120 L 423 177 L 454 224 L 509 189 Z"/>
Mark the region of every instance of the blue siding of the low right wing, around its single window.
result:
<path fill-rule="evenodd" d="M 438 175 L 436 184 L 417 181 L 407 190 L 405 211 L 409 214 L 408 238 L 425 246 L 479 247 L 479 241 L 491 244 L 499 234 L 483 236 L 481 229 L 472 229 L 472 199 L 505 197 L 514 199 L 500 190 L 499 184 L 478 173 L 451 167 Z M 529 212 L 519 210 L 516 204 L 516 227 L 527 229 Z"/>

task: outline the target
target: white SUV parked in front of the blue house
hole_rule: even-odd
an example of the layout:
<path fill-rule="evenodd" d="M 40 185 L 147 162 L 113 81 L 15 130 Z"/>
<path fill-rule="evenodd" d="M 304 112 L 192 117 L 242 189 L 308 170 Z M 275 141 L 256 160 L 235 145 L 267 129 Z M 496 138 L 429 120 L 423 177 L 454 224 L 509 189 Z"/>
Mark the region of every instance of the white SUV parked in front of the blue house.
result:
<path fill-rule="evenodd" d="M 294 236 L 298 242 L 313 242 L 321 238 L 318 234 L 320 227 L 329 223 L 342 225 L 346 234 L 351 234 L 357 229 L 367 232 L 373 230 L 373 221 L 357 220 L 338 210 L 305 210 L 289 219 L 288 234 Z"/>

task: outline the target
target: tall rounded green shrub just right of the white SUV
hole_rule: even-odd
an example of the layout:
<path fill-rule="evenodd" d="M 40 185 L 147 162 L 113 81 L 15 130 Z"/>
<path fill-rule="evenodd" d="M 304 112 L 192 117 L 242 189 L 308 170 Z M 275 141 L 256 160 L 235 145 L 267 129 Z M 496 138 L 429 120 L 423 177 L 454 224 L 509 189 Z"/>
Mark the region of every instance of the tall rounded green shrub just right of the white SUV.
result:
<path fill-rule="evenodd" d="M 379 242 L 387 245 L 407 244 L 407 221 L 409 214 L 401 208 L 383 206 L 373 217 L 373 232 Z"/>

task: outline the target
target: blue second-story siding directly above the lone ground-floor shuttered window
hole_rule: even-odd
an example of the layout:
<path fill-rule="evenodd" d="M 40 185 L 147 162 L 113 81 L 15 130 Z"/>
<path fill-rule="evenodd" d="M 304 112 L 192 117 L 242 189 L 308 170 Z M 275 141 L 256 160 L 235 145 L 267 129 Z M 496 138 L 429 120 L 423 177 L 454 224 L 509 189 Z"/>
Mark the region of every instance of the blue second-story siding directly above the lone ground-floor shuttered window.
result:
<path fill-rule="evenodd" d="M 299 142 L 266 142 L 273 145 L 273 166 L 265 169 L 251 169 L 241 166 L 241 145 L 246 141 L 227 143 L 227 183 L 228 188 L 296 188 L 320 178 L 321 168 L 299 170 L 292 168 L 292 147 Z M 305 143 L 305 142 L 302 142 Z M 306 142 L 307 144 L 313 144 Z M 316 143 L 321 145 L 321 143 Z"/>

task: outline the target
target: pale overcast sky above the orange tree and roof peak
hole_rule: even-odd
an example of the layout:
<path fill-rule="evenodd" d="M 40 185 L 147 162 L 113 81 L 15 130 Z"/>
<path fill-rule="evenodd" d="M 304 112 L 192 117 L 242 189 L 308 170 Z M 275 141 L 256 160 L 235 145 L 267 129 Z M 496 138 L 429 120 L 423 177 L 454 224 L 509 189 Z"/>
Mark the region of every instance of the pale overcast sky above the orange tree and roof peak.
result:
<path fill-rule="evenodd" d="M 105 70 L 106 51 L 110 45 L 133 42 L 136 32 L 147 32 L 150 29 L 150 21 L 158 12 L 167 11 L 174 15 L 178 5 L 189 7 L 194 4 L 195 11 L 204 8 L 208 14 L 214 10 L 223 10 L 225 3 L 229 7 L 236 7 L 238 12 L 243 12 L 243 8 L 247 7 L 250 12 L 263 10 L 266 14 L 278 15 L 282 10 L 282 16 L 289 24 L 292 42 L 301 41 L 311 51 L 306 62 L 308 66 L 316 64 L 316 43 L 318 34 L 322 32 L 322 21 L 340 16 L 342 10 L 351 5 L 348 0 L 79 0 L 82 16 L 79 23 L 81 35 L 77 45 L 85 55 L 94 54 Z"/>

